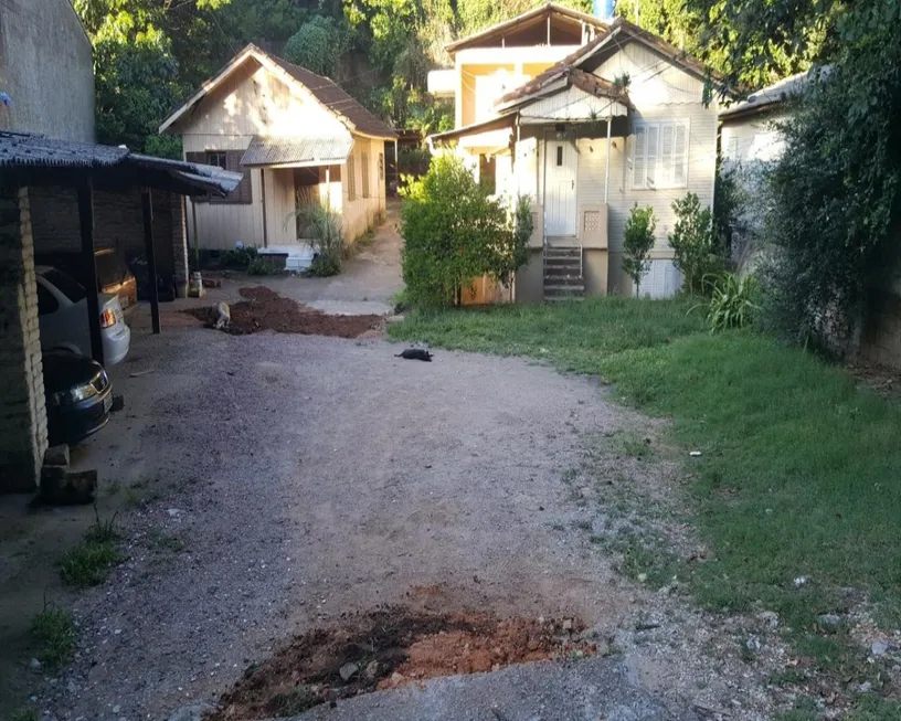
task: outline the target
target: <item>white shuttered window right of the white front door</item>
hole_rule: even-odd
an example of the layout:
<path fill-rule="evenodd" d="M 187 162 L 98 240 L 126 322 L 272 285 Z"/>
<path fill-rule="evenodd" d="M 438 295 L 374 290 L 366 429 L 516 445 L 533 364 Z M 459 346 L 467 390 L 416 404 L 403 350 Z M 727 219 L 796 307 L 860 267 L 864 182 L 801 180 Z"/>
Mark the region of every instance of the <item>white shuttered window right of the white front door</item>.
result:
<path fill-rule="evenodd" d="M 688 120 L 639 123 L 632 145 L 633 188 L 685 188 Z"/>

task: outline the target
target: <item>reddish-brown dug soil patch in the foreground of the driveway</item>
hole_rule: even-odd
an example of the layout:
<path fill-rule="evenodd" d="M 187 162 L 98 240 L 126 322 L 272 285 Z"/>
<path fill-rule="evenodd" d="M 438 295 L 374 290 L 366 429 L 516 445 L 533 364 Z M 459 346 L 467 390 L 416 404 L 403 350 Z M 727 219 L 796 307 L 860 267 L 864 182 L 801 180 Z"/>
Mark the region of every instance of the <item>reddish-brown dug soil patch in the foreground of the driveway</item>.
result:
<path fill-rule="evenodd" d="M 573 619 L 499 619 L 403 607 L 350 617 L 296 636 L 251 666 L 206 721 L 288 717 L 380 688 L 512 664 L 591 656 Z"/>

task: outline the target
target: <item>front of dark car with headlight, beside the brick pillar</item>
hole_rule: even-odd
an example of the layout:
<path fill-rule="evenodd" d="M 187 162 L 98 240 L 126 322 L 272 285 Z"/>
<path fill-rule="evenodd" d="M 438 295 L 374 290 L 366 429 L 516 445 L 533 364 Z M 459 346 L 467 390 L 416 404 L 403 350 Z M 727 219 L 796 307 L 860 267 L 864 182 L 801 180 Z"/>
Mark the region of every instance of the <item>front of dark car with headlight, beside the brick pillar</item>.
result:
<path fill-rule="evenodd" d="M 50 445 L 77 443 L 103 428 L 113 407 L 113 385 L 103 365 L 71 351 L 43 356 Z"/>

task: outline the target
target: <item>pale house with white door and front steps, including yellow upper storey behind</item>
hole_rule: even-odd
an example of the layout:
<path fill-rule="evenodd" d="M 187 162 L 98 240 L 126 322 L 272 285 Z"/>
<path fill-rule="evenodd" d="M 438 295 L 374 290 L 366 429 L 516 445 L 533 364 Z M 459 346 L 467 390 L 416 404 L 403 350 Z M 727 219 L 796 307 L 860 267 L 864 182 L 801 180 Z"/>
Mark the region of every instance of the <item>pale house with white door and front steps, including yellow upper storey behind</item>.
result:
<path fill-rule="evenodd" d="M 433 147 L 454 148 L 511 202 L 532 200 L 532 258 L 513 299 L 630 295 L 623 233 L 636 202 L 657 216 L 642 293 L 675 294 L 672 201 L 691 191 L 713 203 L 717 104 L 704 106 L 704 66 L 622 19 L 553 3 L 447 50 L 454 70 L 430 84 L 453 88 L 457 127 Z"/>

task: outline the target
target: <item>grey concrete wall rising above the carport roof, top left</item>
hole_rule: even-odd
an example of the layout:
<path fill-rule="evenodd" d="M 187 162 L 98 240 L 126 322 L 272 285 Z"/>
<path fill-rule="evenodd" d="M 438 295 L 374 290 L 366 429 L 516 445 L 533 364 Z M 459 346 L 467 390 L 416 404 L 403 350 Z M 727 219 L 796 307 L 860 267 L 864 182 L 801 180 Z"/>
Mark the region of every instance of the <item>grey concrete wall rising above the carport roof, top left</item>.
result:
<path fill-rule="evenodd" d="M 0 2 L 0 129 L 94 141 L 94 60 L 70 0 Z"/>

